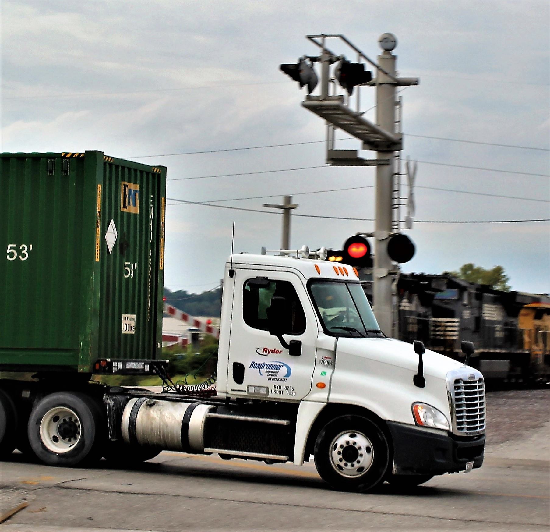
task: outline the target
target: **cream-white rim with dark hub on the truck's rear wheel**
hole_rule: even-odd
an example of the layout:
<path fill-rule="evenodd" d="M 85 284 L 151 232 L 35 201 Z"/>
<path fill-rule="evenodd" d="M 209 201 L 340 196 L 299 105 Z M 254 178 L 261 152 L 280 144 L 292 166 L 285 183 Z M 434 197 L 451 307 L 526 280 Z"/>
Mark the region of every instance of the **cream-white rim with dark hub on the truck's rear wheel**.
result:
<path fill-rule="evenodd" d="M 40 439 L 52 453 L 70 451 L 80 441 L 81 435 L 80 419 L 67 407 L 48 410 L 40 422 Z"/>

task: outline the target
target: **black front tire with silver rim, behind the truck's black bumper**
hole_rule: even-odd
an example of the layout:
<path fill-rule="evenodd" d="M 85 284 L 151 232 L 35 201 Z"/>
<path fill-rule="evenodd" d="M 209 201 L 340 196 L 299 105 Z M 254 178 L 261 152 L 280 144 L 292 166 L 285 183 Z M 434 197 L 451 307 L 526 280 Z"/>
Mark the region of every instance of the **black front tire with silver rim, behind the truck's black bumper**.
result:
<path fill-rule="evenodd" d="M 346 415 L 323 427 L 313 457 L 321 478 L 335 490 L 364 493 L 384 481 L 389 448 L 386 436 L 373 421 Z"/>

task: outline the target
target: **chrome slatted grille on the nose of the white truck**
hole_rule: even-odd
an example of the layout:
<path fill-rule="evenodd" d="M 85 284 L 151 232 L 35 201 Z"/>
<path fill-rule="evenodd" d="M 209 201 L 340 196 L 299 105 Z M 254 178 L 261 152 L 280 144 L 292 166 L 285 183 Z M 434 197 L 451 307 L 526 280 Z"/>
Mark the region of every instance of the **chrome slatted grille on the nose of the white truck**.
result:
<path fill-rule="evenodd" d="M 485 384 L 483 379 L 454 380 L 455 426 L 460 434 L 485 430 Z"/>

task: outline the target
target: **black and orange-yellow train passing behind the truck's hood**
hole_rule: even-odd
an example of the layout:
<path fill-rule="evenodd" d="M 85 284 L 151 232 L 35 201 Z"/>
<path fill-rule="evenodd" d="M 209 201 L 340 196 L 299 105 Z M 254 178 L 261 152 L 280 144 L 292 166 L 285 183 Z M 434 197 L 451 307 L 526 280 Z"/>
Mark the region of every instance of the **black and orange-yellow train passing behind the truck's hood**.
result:
<path fill-rule="evenodd" d="M 367 297 L 370 299 L 365 283 Z M 550 297 L 503 292 L 453 276 L 402 273 L 394 291 L 395 337 L 464 360 L 462 341 L 473 342 L 470 365 L 486 379 L 550 380 Z"/>

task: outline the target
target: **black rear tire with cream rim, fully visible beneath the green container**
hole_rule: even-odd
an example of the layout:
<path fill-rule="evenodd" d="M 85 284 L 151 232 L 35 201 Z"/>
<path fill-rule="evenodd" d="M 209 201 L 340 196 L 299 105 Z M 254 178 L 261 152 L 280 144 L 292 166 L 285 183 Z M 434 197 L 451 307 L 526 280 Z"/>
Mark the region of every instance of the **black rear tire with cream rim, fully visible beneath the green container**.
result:
<path fill-rule="evenodd" d="M 56 392 L 32 409 L 27 432 L 38 459 L 48 465 L 73 467 L 101 458 L 105 425 L 94 399 L 80 392 Z"/>

